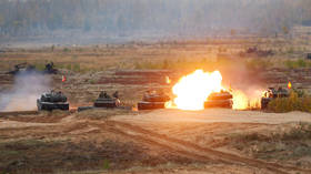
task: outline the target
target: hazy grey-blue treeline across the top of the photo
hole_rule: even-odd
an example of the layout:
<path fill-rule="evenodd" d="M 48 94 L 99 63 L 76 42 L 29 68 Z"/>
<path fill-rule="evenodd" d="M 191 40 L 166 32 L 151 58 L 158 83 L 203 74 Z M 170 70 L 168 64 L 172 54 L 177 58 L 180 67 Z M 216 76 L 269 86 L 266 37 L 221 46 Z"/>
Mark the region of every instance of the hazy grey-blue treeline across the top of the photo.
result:
<path fill-rule="evenodd" d="M 84 32 L 273 33 L 311 25 L 310 0 L 1 0 L 0 35 Z"/>

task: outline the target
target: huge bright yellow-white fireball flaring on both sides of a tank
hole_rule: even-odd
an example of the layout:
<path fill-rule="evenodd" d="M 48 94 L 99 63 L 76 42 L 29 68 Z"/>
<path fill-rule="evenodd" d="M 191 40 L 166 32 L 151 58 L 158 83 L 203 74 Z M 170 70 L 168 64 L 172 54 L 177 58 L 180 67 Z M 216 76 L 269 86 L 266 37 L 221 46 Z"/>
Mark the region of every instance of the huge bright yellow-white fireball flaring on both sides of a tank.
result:
<path fill-rule="evenodd" d="M 222 75 L 219 71 L 204 72 L 197 70 L 193 73 L 182 76 L 172 88 L 175 95 L 173 101 L 165 103 L 167 109 L 181 109 L 198 111 L 204 109 L 204 102 L 212 92 L 225 90 L 222 86 Z M 225 90 L 228 91 L 228 90 Z M 245 110 L 254 105 L 257 101 L 249 99 L 242 91 L 234 91 L 230 86 L 233 95 L 233 109 Z"/>

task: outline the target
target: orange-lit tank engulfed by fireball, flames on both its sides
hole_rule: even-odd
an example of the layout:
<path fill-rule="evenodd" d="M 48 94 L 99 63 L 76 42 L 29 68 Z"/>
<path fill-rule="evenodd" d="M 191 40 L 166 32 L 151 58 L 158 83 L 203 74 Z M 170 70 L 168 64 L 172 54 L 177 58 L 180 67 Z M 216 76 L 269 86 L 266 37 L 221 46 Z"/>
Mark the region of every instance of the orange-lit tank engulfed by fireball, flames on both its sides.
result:
<path fill-rule="evenodd" d="M 204 108 L 227 108 L 232 109 L 232 94 L 228 91 L 221 90 L 220 92 L 213 92 L 209 95 L 204 102 Z"/>

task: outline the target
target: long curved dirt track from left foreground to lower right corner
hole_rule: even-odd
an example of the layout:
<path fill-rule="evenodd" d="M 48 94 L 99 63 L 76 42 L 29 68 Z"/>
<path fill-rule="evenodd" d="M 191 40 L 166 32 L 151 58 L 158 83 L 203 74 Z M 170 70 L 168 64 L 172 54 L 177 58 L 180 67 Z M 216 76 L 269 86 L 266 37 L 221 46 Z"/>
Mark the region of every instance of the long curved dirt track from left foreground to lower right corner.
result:
<path fill-rule="evenodd" d="M 68 122 L 66 122 L 68 123 Z M 287 173 L 291 171 L 299 171 L 303 173 L 311 173 L 311 170 L 303 170 L 297 168 L 293 166 L 283 166 L 277 163 L 267 163 L 259 160 L 241 157 L 238 155 L 214 151 L 212 149 L 202 147 L 191 142 L 169 137 L 164 134 L 159 134 L 141 126 L 120 122 L 120 121 L 79 121 L 79 122 L 70 122 L 71 126 L 62 127 L 64 123 L 59 122 L 54 123 L 54 127 L 47 127 L 47 126 L 38 126 L 37 129 L 42 130 L 44 136 L 59 136 L 66 134 L 84 134 L 87 135 L 89 131 L 99 131 L 103 130 L 104 132 L 111 132 L 121 136 L 124 136 L 130 140 L 134 140 L 137 142 L 142 142 L 146 144 L 150 144 L 153 146 L 158 146 L 163 149 L 170 154 L 178 154 L 179 156 L 184 156 L 187 158 L 191 158 L 197 162 L 204 162 L 204 163 L 221 163 L 221 164 L 233 164 L 233 165 L 242 165 L 242 166 L 250 166 L 252 168 L 264 168 L 271 171 L 273 173 Z M 58 131 L 51 131 L 50 129 L 57 129 Z M 62 127 L 62 129 L 61 129 Z M 26 127 L 23 127 L 26 129 Z M 34 129 L 34 127 L 32 127 Z M 48 131 L 48 130 L 50 131 Z M 99 130 L 98 130 L 99 129 Z M 2 130 L 3 131 L 3 130 Z M 14 129 L 16 131 L 16 129 Z M 21 131 L 21 130 L 20 130 Z M 32 130 L 29 130 L 30 132 Z M 47 132 L 46 132 L 47 131 Z M 78 132 L 77 132 L 78 131 Z M 24 131 L 23 131 L 24 132 Z M 31 133 L 30 133 L 31 134 Z M 284 172 L 285 171 L 285 172 Z"/>

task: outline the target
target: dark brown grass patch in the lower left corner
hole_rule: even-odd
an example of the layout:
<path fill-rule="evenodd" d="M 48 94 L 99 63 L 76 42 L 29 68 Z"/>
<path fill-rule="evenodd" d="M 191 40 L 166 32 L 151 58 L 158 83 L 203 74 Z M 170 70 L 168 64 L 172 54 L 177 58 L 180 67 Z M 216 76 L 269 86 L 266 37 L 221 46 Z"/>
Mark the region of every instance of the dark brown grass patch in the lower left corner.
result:
<path fill-rule="evenodd" d="M 0 143 L 0 171 L 3 173 L 56 173 L 58 171 L 122 170 L 148 158 L 133 143 L 106 140 L 23 140 Z"/>

